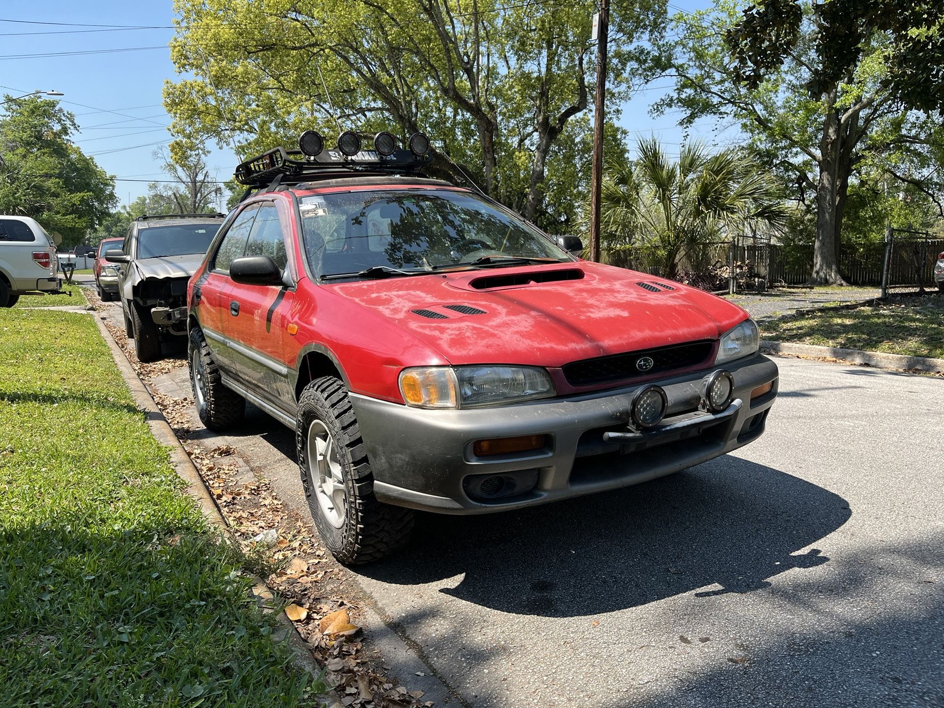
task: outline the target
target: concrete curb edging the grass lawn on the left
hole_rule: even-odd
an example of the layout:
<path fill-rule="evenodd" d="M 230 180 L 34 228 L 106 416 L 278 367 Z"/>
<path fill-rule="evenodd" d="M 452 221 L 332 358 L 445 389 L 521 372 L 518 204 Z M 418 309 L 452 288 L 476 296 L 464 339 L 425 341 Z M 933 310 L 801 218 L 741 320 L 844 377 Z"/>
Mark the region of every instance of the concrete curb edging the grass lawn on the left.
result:
<path fill-rule="evenodd" d="M 114 338 L 111 336 L 111 332 L 105 327 L 101 315 L 98 312 L 93 312 L 93 314 L 97 315 L 93 317 L 93 320 L 98 326 L 98 330 L 101 332 L 105 343 L 109 346 L 111 358 L 114 359 L 115 364 L 118 366 L 118 371 L 121 372 L 122 379 L 125 379 L 127 387 L 131 391 L 131 397 L 134 398 L 135 404 L 144 412 L 147 427 L 151 430 L 151 434 L 154 435 L 155 439 L 161 445 L 168 448 L 171 464 L 174 465 L 174 469 L 177 471 L 177 475 L 180 479 L 187 482 L 187 493 L 191 497 L 194 497 L 197 504 L 200 506 L 200 511 L 214 527 L 222 532 L 227 542 L 232 543 L 232 539 L 229 535 L 229 525 L 223 517 L 223 514 L 220 513 L 220 509 L 216 505 L 216 500 L 204 484 L 203 478 L 200 477 L 200 473 L 197 471 L 194 463 L 191 462 L 187 451 L 180 444 L 177 435 L 174 430 L 171 429 L 163 413 L 160 413 L 157 402 L 155 402 L 154 397 L 147 391 L 147 387 L 144 386 L 144 382 L 138 376 L 138 372 L 136 372 L 131 366 L 131 363 L 127 361 L 125 352 L 122 351 L 121 347 L 118 346 L 118 343 L 115 342 Z M 265 604 L 268 600 L 274 598 L 272 591 L 260 578 L 253 578 L 253 581 L 252 594 L 260 603 L 263 611 L 266 609 L 270 612 L 274 611 L 275 608 Z M 276 636 L 275 639 L 277 641 L 284 639 L 287 642 L 294 655 L 293 663 L 295 666 L 308 671 L 312 676 L 319 676 L 322 673 L 322 668 L 314 661 L 312 652 L 309 651 L 305 645 L 305 640 L 302 639 L 301 634 L 295 629 L 295 623 L 288 618 L 288 615 L 285 615 L 284 611 L 278 613 L 278 623 L 282 626 L 282 631 L 279 632 L 279 635 Z M 340 706 L 340 697 L 333 689 L 329 690 L 330 693 L 323 696 L 322 700 L 328 700 L 330 708 Z"/>

